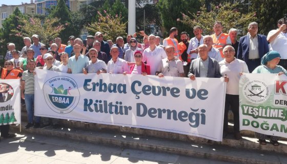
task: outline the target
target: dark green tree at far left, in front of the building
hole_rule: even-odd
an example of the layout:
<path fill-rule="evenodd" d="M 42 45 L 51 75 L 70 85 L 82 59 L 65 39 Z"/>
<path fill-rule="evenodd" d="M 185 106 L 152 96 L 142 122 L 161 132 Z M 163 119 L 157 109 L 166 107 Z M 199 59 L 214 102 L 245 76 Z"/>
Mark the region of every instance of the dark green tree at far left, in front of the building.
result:
<path fill-rule="evenodd" d="M 25 16 L 20 12 L 18 8 L 16 8 L 13 11 L 13 13 L 4 20 L 2 26 L 3 26 L 3 38 L 5 38 L 4 41 L 5 50 L 7 50 L 6 48 L 7 43 L 14 43 L 16 46 L 16 50 L 22 50 L 24 46 L 23 38 L 17 37 L 15 35 L 16 33 L 12 32 L 12 30 L 16 30 L 17 26 L 23 25 L 19 22 L 19 19 L 21 18 L 25 18 Z"/>

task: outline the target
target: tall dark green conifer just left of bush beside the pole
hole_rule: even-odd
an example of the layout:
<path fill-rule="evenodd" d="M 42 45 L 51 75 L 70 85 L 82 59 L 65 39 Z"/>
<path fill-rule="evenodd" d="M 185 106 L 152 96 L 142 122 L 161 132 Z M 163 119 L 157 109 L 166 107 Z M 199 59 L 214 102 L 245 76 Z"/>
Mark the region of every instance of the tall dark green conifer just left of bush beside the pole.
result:
<path fill-rule="evenodd" d="M 80 29 L 72 24 L 71 12 L 67 7 L 65 0 L 58 0 L 57 6 L 50 10 L 49 18 L 60 18 L 59 23 L 65 25 L 65 30 L 59 33 L 59 37 L 62 39 L 62 43 L 67 43 L 69 36 L 79 35 Z"/>

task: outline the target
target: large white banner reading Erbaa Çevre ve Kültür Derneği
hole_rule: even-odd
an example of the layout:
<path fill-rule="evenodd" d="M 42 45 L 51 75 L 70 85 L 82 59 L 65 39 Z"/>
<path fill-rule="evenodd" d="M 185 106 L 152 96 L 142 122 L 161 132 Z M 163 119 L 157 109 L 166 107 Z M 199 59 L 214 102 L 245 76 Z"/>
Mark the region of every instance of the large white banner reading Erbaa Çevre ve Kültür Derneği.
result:
<path fill-rule="evenodd" d="M 222 78 L 66 74 L 36 69 L 35 115 L 222 140 Z"/>

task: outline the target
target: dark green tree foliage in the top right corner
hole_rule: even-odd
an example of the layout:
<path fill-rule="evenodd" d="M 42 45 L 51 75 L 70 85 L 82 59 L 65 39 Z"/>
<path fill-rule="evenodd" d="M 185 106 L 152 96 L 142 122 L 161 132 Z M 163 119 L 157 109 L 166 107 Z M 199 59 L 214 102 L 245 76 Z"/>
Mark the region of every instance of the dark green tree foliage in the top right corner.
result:
<path fill-rule="evenodd" d="M 267 35 L 277 29 L 277 22 L 287 13 L 287 3 L 284 0 L 253 0 L 251 10 L 256 13 L 259 32 Z"/>

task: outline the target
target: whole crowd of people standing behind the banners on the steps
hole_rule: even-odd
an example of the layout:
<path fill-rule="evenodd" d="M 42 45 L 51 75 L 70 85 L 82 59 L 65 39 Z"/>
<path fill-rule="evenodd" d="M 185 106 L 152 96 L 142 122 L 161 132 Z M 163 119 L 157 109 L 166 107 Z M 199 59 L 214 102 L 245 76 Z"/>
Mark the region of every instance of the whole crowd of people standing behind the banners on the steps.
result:
<path fill-rule="evenodd" d="M 22 51 L 15 50 L 10 43 L 5 56 L 5 68 L 0 69 L 2 79 L 21 78 L 21 97 L 25 100 L 28 112 L 28 124 L 42 128 L 53 125 L 58 128 L 58 120 L 34 117 L 34 70 L 46 69 L 64 73 L 115 73 L 142 74 L 160 77 L 197 77 L 224 78 L 227 83 L 224 112 L 223 137 L 228 135 L 228 111 L 234 113 L 233 134 L 241 139 L 239 132 L 239 78 L 243 73 L 279 73 L 287 75 L 287 29 L 284 20 L 278 20 L 278 29 L 270 31 L 268 36 L 258 34 L 258 24 L 249 24 L 248 33 L 237 41 L 237 29 L 223 33 L 223 26 L 215 22 L 214 34 L 202 35 L 204 29 L 193 28 L 194 36 L 185 31 L 180 33 L 180 43 L 176 39 L 178 29 L 173 27 L 169 37 L 160 45 L 160 37 L 147 35 L 144 31 L 127 35 L 127 42 L 121 36 L 104 41 L 104 35 L 96 32 L 81 40 L 69 37 L 70 45 L 61 43 L 56 37 L 49 41 L 49 47 L 39 42 L 37 34 L 24 37 Z M 104 31 L 103 31 L 104 32 Z M 137 35 L 143 36 L 139 43 Z M 279 66 L 281 65 L 281 66 Z M 12 75 L 13 73 L 13 75 Z M 1 126 L 1 136 L 9 134 L 9 125 Z M 4 129 L 2 131 L 2 129 Z M 266 135 L 256 133 L 259 143 L 267 144 Z M 278 145 L 278 137 L 271 136 L 271 143 Z"/>

